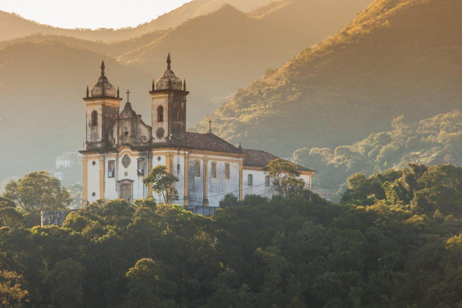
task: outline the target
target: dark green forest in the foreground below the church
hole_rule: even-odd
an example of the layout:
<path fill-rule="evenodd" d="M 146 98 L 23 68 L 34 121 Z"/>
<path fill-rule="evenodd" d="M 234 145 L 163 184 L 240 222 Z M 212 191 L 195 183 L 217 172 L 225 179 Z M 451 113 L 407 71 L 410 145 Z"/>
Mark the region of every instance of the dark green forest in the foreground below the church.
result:
<path fill-rule="evenodd" d="M 33 182 L 28 182 L 33 185 Z M 456 308 L 462 169 L 348 179 L 340 204 L 310 191 L 248 195 L 213 216 L 102 200 L 62 227 L 0 198 L 0 300 L 9 307 Z"/>

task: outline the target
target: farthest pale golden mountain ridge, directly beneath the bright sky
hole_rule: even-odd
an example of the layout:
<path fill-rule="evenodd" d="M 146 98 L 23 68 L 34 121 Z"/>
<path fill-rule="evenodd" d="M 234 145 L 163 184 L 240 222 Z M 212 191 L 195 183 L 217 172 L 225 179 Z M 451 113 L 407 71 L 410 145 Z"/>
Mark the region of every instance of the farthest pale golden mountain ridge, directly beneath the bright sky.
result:
<path fill-rule="evenodd" d="M 42 25 L 22 18 L 17 14 L 0 11 L 0 29 L 8 29 L 8 31 L 0 32 L 0 41 L 28 36 L 34 33 L 72 36 L 91 41 L 126 40 L 153 31 L 176 27 L 189 18 L 213 12 L 224 3 L 230 3 L 233 6 L 239 7 L 244 12 L 248 12 L 257 6 L 267 4 L 268 0 L 192 0 L 158 18 L 155 18 L 156 12 L 152 12 L 152 17 L 155 19 L 150 22 L 140 24 L 133 28 L 116 30 L 62 29 L 49 25 Z M 140 9 L 142 8 L 140 7 Z"/>

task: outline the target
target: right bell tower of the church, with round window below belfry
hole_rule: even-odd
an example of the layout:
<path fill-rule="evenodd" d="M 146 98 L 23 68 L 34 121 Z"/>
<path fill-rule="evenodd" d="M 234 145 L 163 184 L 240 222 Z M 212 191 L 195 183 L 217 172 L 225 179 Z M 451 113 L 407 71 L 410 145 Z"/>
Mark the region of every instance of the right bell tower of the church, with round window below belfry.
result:
<path fill-rule="evenodd" d="M 152 80 L 152 143 L 186 144 L 186 80 L 182 82 L 170 69 L 170 53 L 167 70 L 154 83 Z"/>

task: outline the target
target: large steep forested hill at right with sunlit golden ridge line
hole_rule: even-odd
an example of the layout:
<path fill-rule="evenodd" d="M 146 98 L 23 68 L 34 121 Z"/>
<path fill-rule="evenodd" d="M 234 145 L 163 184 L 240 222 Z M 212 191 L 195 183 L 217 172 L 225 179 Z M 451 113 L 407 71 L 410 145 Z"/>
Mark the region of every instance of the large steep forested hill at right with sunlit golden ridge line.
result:
<path fill-rule="evenodd" d="M 195 126 L 275 154 L 353 143 L 404 114 L 462 103 L 462 3 L 376 0 L 332 37 L 267 70 Z"/>

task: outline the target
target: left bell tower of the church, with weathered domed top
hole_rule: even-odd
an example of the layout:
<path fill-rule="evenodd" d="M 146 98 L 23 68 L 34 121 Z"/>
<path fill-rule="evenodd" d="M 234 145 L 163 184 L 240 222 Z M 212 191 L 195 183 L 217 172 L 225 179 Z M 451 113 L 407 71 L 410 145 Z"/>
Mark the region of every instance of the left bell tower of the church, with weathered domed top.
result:
<path fill-rule="evenodd" d="M 86 90 L 86 149 L 105 148 L 107 135 L 119 116 L 119 88 L 109 83 L 104 76 L 104 60 L 101 62 L 101 76 Z"/>

